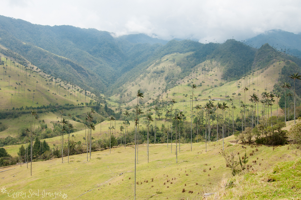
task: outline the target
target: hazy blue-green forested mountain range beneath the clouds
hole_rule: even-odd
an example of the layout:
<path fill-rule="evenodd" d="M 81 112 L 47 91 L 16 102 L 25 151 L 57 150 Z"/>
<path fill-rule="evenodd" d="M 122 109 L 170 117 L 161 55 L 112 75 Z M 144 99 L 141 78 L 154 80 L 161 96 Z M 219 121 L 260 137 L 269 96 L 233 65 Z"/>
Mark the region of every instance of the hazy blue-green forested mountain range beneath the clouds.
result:
<path fill-rule="evenodd" d="M 193 53 L 175 62 L 181 71 L 168 77 L 166 90 L 206 60 L 220 62 L 222 78 L 234 80 L 252 70 L 254 62 L 259 61 L 256 52 L 262 44 L 268 42 L 279 50 L 289 48 L 287 51 L 291 53 L 301 48 L 301 35 L 281 30 L 260 34 L 248 40 L 251 42 L 229 39 L 223 44 L 202 44 L 191 40 L 165 41 L 145 34 L 113 37 L 107 31 L 43 26 L 5 16 L 0 16 L 0 38 L 2 46 L 45 73 L 107 95 L 116 93 L 117 89 L 119 93 L 125 92 L 120 86 L 132 82 L 163 56 L 175 52 Z"/>

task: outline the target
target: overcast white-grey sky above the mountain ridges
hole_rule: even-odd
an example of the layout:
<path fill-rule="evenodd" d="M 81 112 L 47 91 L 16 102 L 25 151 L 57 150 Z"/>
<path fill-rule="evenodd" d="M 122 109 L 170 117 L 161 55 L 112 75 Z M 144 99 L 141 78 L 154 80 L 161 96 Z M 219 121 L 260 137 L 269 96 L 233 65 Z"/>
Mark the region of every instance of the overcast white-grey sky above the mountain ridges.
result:
<path fill-rule="evenodd" d="M 2 0 L 1 15 L 41 25 L 72 25 L 202 43 L 251 38 L 267 30 L 301 32 L 300 0 Z"/>

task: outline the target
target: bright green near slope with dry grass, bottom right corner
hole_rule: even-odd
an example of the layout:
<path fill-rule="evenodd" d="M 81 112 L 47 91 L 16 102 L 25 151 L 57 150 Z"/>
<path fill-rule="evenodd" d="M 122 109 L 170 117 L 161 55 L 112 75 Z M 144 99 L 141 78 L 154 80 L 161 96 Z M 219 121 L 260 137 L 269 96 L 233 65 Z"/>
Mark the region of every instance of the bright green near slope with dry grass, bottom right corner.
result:
<path fill-rule="evenodd" d="M 297 154 L 294 146 L 286 146 Z M 276 162 L 290 155 L 275 148 Z M 216 187 L 216 195 L 207 199 L 300 199 L 300 157 L 280 162 L 269 170 L 254 170 L 250 173 L 223 179 Z M 231 183 L 231 185 L 229 185 Z"/>

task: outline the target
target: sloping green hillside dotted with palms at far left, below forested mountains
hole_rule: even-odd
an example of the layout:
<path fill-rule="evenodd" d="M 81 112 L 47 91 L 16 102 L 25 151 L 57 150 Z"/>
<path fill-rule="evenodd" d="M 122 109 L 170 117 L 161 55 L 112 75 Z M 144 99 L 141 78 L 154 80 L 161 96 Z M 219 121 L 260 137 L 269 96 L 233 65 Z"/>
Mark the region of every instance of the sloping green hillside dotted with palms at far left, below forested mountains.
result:
<path fill-rule="evenodd" d="M 24 66 L 5 54 L 1 57 L 3 72 L 0 109 L 36 107 L 50 103 L 77 105 L 91 100 L 79 86 L 51 77 L 31 63 Z"/>

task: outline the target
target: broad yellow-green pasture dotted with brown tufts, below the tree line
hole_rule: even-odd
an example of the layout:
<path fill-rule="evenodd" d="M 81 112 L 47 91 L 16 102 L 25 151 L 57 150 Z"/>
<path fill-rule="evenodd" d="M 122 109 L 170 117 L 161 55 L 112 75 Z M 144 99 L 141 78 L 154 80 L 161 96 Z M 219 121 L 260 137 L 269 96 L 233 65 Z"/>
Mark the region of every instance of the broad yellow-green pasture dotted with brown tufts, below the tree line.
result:
<path fill-rule="evenodd" d="M 229 138 L 233 140 L 233 137 Z M 249 155 L 250 175 L 271 170 L 279 162 L 294 161 L 299 153 L 288 147 L 250 147 L 242 149 L 241 145 L 225 143 L 226 151 L 244 152 Z M 224 158 L 220 155 L 222 143 L 212 142 L 193 144 L 192 152 L 190 144 L 181 145 L 181 153 L 178 152 L 178 164 L 176 164 L 175 144 L 150 145 L 149 163 L 147 163 L 146 146 L 139 146 L 136 195 L 138 199 L 202 199 L 204 193 L 215 192 L 215 186 L 225 177 L 230 176 L 229 168 L 225 167 Z M 258 151 L 256 151 L 256 148 Z M 132 199 L 134 195 L 134 147 L 114 148 L 102 152 L 92 152 L 92 159 L 86 161 L 86 155 L 70 157 L 70 163 L 64 158 L 52 159 L 33 163 L 33 176 L 30 177 L 29 168 L 12 166 L 3 170 L 2 186 L 7 191 L 37 192 L 39 197 L 42 191 L 61 192 L 68 198 L 91 199 L 113 198 Z M 256 164 L 252 161 L 256 160 Z M 247 176 L 247 175 L 246 175 Z M 66 178 L 64 178 L 66 177 Z M 68 177 L 68 178 L 67 178 Z M 185 189 L 185 192 L 183 192 Z M 120 191 L 120 192 L 116 192 Z M 193 193 L 189 192 L 193 191 Z M 86 193 L 85 193 L 86 192 Z M 85 193 L 85 194 L 84 194 Z M 80 196 L 81 195 L 81 196 Z M 258 195 L 257 195 L 258 196 Z M 260 198 L 260 196 L 258 196 Z M 8 198 L 7 194 L 0 195 L 0 199 Z M 50 196 L 48 197 L 50 198 Z"/>

